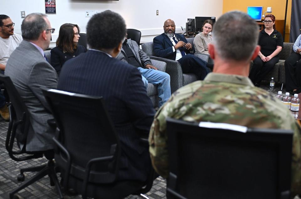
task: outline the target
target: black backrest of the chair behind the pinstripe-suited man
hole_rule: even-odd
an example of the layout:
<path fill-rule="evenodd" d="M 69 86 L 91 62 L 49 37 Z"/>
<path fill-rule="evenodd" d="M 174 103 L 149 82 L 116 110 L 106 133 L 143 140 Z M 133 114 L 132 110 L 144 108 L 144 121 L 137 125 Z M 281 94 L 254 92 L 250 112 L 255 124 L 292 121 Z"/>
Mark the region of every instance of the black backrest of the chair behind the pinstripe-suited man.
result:
<path fill-rule="evenodd" d="M 120 156 L 119 139 L 102 97 L 54 89 L 44 91 L 44 95 L 57 123 L 56 139 L 70 156 L 56 150 L 56 163 L 65 171 L 70 169 L 70 175 L 83 179 L 91 159 L 114 156 L 92 164 L 89 178 L 94 183 L 113 182 Z"/>

